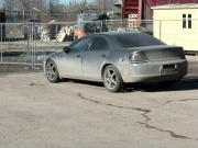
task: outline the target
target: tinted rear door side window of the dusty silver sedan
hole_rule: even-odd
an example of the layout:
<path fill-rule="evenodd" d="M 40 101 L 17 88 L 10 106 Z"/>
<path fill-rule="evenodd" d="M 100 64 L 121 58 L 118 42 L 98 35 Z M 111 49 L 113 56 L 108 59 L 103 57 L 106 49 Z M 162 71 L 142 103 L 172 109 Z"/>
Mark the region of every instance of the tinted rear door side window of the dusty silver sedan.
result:
<path fill-rule="evenodd" d="M 109 49 L 109 43 L 106 38 L 96 36 L 90 45 L 89 50 L 107 50 Z"/>

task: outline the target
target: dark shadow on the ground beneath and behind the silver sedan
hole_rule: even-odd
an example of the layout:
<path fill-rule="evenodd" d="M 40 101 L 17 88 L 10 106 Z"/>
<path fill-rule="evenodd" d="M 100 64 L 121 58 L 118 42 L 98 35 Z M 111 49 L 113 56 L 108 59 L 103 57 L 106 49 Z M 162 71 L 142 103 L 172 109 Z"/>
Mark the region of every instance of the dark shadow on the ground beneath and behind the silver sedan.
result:
<path fill-rule="evenodd" d="M 84 86 L 97 87 L 97 89 L 105 89 L 102 82 L 92 82 L 85 80 L 67 80 L 64 79 L 62 82 L 79 83 Z M 165 91 L 188 91 L 198 89 L 198 78 L 184 78 L 176 81 L 169 88 L 162 88 L 157 83 L 127 83 L 122 92 L 165 92 Z"/>

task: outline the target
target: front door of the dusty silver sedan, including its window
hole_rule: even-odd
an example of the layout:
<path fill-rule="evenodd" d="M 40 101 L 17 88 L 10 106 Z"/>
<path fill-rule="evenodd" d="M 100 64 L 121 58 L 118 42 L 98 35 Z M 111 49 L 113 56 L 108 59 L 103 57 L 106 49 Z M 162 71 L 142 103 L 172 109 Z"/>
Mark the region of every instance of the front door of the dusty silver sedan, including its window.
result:
<path fill-rule="evenodd" d="M 90 36 L 82 37 L 68 46 L 69 52 L 64 53 L 59 61 L 61 72 L 64 78 L 82 78 L 81 61 L 90 38 Z"/>

